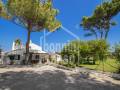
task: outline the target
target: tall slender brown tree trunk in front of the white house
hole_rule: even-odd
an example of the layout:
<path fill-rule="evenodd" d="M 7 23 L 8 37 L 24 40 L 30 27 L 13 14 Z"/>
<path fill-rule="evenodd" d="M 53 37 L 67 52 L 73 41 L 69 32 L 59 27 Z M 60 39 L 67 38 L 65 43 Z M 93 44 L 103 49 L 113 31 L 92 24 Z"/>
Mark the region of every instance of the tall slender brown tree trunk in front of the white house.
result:
<path fill-rule="evenodd" d="M 26 55 L 25 55 L 25 61 L 26 64 L 29 63 L 29 44 L 30 44 L 30 35 L 31 35 L 31 27 L 28 28 L 28 36 L 27 36 L 27 43 L 26 43 Z"/>

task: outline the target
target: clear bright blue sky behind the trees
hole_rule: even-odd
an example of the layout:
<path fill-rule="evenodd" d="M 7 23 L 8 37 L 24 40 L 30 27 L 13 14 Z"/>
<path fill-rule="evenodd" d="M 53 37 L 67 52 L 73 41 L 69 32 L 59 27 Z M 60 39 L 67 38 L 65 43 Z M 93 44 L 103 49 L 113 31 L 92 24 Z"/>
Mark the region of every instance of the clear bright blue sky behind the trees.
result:
<path fill-rule="evenodd" d="M 100 4 L 101 0 L 53 0 L 54 7 L 57 8 L 60 13 L 57 19 L 61 21 L 62 25 L 69 29 L 72 33 L 77 35 L 81 40 L 91 40 L 94 37 L 84 37 L 84 31 L 82 27 L 79 27 L 83 16 L 92 15 L 95 7 Z M 117 21 L 117 25 L 112 27 L 109 33 L 108 42 L 114 44 L 120 41 L 120 14 L 114 18 Z M 40 45 L 40 37 L 44 32 L 32 33 L 31 40 Z M 24 28 L 15 25 L 4 19 L 0 19 L 0 46 L 4 50 L 11 50 L 12 42 L 20 38 L 25 44 L 27 38 L 27 32 Z M 46 38 L 47 43 L 65 43 L 68 40 L 76 39 L 69 33 L 66 33 L 63 29 L 59 29 L 50 34 Z"/>

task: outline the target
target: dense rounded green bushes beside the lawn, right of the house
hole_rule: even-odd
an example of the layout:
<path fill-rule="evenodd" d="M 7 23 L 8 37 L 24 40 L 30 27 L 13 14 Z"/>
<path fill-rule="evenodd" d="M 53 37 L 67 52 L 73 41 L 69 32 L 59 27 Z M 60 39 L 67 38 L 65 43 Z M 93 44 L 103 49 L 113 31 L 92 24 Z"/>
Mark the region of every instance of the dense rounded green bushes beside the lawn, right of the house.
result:
<path fill-rule="evenodd" d="M 73 62 L 76 65 L 79 63 L 89 62 L 91 59 L 95 64 L 96 60 L 105 60 L 108 54 L 109 45 L 105 40 L 91 40 L 91 41 L 72 41 L 67 44 L 61 54 L 68 56 L 68 61 Z M 73 56 L 72 60 L 69 60 L 70 56 Z"/>

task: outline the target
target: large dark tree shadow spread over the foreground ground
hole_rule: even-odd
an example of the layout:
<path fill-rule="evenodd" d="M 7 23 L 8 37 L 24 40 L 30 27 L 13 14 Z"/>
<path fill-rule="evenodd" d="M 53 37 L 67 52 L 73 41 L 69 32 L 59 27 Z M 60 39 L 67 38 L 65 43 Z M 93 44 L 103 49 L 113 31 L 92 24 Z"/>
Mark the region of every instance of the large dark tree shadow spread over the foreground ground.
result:
<path fill-rule="evenodd" d="M 83 77 L 84 76 L 84 77 Z M 98 82 L 85 75 L 64 72 L 6 72 L 0 74 L 0 90 L 120 90 L 119 85 Z"/>

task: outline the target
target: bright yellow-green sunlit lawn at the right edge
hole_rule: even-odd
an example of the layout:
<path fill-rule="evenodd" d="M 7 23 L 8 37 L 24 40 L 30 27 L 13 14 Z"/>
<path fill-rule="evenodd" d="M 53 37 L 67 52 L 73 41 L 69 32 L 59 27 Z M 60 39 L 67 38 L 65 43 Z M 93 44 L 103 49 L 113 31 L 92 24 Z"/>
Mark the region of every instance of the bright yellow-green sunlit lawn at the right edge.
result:
<path fill-rule="evenodd" d="M 103 63 L 99 62 L 99 61 L 96 62 L 96 65 L 86 64 L 86 65 L 80 65 L 80 66 L 83 66 L 83 67 L 89 68 L 89 69 L 103 71 Z M 117 67 L 118 67 L 118 64 L 116 63 L 116 61 L 114 59 L 107 59 L 104 62 L 104 71 L 105 72 L 117 72 Z"/>

